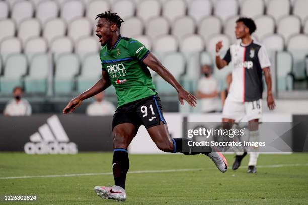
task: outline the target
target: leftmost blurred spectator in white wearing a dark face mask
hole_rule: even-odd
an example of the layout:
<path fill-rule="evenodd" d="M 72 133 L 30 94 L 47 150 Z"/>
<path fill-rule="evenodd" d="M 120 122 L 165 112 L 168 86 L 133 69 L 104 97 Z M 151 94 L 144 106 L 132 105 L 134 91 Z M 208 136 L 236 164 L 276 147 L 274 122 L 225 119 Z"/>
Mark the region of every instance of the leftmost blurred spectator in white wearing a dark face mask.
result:
<path fill-rule="evenodd" d="M 32 113 L 32 108 L 29 102 L 22 99 L 23 89 L 21 87 L 15 87 L 13 89 L 13 97 L 9 101 L 3 111 L 6 116 L 29 116 Z"/>

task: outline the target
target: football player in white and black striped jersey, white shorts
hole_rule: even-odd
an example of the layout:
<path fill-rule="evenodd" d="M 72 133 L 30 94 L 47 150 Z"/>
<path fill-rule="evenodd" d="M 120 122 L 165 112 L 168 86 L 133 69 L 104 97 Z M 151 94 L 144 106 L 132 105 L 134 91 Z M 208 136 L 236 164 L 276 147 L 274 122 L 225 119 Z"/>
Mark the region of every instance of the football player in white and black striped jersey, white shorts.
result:
<path fill-rule="evenodd" d="M 226 65 L 233 68 L 232 83 L 223 107 L 224 127 L 231 128 L 235 121 L 240 121 L 246 115 L 249 121 L 250 141 L 258 141 L 258 121 L 262 116 L 262 73 L 264 73 L 267 86 L 267 105 L 270 110 L 275 108 L 272 95 L 272 80 L 270 74 L 270 60 L 266 49 L 251 38 L 256 30 L 254 21 L 250 18 L 240 17 L 236 21 L 235 35 L 241 41 L 228 49 L 223 59 L 219 51 L 222 42 L 216 44 L 216 65 L 222 69 Z M 256 173 L 258 150 L 250 149 L 248 172 Z M 247 154 L 237 153 L 232 168 L 238 169 L 241 160 Z"/>

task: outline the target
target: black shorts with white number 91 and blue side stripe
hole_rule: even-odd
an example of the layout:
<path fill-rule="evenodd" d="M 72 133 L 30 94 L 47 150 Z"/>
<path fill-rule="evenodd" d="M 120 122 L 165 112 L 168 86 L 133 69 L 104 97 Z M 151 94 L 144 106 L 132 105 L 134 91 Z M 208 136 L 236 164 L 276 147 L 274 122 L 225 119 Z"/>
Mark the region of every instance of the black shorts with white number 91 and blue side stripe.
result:
<path fill-rule="evenodd" d="M 139 99 L 120 106 L 113 115 L 112 130 L 116 125 L 132 123 L 136 129 L 144 125 L 146 129 L 167 124 L 163 116 L 161 100 L 157 95 Z"/>

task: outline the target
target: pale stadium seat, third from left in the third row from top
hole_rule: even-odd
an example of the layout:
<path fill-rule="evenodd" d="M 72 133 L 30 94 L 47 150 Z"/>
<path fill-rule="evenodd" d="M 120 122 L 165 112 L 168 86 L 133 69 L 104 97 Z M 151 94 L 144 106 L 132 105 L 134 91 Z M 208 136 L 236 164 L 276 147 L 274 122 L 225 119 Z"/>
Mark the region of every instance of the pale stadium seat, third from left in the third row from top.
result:
<path fill-rule="evenodd" d="M 73 47 L 73 41 L 69 37 L 59 37 L 52 41 L 49 50 L 53 53 L 54 60 L 57 60 L 59 56 L 65 53 L 71 53 Z"/>

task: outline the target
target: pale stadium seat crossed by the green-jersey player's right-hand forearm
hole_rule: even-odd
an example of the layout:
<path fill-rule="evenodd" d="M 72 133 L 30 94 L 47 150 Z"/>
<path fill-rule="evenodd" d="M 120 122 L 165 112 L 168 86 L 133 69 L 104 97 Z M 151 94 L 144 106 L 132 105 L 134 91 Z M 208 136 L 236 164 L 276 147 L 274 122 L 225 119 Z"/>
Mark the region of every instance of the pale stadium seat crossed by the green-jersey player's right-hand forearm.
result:
<path fill-rule="evenodd" d="M 185 58 L 181 53 L 178 52 L 167 53 L 163 58 L 162 64 L 178 80 L 185 71 Z M 174 93 L 174 87 L 172 87 L 161 77 L 156 79 L 156 88 L 157 91 L 161 94 Z"/>

